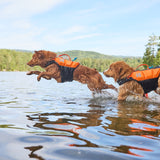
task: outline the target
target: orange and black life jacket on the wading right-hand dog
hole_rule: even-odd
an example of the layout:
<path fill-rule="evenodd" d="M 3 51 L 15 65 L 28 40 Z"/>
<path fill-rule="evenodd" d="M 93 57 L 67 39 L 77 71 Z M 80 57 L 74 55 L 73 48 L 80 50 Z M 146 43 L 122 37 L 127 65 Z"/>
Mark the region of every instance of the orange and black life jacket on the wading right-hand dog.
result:
<path fill-rule="evenodd" d="M 158 78 L 160 76 L 160 67 L 152 69 L 135 71 L 128 78 L 118 80 L 118 84 L 122 85 L 128 81 L 134 80 L 138 82 L 144 90 L 144 93 L 148 93 L 152 90 L 156 90 L 158 87 Z"/>

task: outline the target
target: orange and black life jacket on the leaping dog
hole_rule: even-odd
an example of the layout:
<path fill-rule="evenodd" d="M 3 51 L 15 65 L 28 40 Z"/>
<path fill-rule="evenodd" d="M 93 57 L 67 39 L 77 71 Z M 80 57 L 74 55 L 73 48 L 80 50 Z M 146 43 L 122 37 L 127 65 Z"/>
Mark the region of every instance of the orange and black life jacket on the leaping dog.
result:
<path fill-rule="evenodd" d="M 61 73 L 61 82 L 73 81 L 73 72 L 80 65 L 79 62 L 73 62 L 71 60 L 64 59 L 62 57 L 56 57 L 51 61 L 48 61 L 45 67 L 51 64 L 57 64 Z"/>

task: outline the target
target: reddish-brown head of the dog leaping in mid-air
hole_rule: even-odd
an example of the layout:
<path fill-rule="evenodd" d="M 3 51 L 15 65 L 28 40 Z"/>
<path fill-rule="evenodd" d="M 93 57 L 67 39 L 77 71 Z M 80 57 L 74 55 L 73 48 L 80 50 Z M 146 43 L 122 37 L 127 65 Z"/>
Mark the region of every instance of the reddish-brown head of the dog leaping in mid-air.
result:
<path fill-rule="evenodd" d="M 27 63 L 27 65 L 34 67 L 34 66 L 41 66 L 45 67 L 48 61 L 53 60 L 56 58 L 57 54 L 50 51 L 40 50 L 35 51 L 32 56 L 32 59 Z"/>

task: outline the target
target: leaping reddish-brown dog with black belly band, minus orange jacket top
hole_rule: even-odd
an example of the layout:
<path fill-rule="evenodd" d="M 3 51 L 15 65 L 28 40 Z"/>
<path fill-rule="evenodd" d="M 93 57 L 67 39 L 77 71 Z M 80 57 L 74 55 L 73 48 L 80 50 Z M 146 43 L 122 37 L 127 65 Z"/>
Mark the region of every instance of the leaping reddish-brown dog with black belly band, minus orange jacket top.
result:
<path fill-rule="evenodd" d="M 58 83 L 65 81 L 79 81 L 80 83 L 87 84 L 88 88 L 92 92 L 101 92 L 102 89 L 115 89 L 113 85 L 108 85 L 102 79 L 102 76 L 96 69 L 91 69 L 86 66 L 80 65 L 74 62 L 77 66 L 76 68 L 69 69 L 68 67 L 61 67 L 55 59 L 57 54 L 50 51 L 40 50 L 35 51 L 31 61 L 27 63 L 27 65 L 40 66 L 44 68 L 46 71 L 30 71 L 27 75 L 36 74 L 38 75 L 37 80 L 40 81 L 41 77 L 50 80 L 54 78 Z M 72 61 L 69 61 L 73 63 Z M 68 71 L 68 68 L 70 71 Z"/>

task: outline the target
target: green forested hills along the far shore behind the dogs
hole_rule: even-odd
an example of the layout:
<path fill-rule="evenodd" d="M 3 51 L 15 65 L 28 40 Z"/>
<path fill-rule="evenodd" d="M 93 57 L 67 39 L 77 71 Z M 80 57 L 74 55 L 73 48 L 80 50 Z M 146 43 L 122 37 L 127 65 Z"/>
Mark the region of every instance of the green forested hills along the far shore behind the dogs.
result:
<path fill-rule="evenodd" d="M 68 54 L 72 59 L 77 57 L 78 59 L 76 61 L 82 65 L 96 68 L 100 72 L 106 70 L 112 62 L 119 60 L 127 62 L 132 67 L 136 67 L 142 63 L 142 58 L 110 56 L 93 51 L 71 50 L 57 52 L 57 54 Z M 32 58 L 32 55 L 32 51 L 0 49 L 0 71 L 41 70 L 40 67 L 31 68 L 26 65 Z"/>

